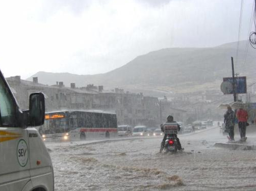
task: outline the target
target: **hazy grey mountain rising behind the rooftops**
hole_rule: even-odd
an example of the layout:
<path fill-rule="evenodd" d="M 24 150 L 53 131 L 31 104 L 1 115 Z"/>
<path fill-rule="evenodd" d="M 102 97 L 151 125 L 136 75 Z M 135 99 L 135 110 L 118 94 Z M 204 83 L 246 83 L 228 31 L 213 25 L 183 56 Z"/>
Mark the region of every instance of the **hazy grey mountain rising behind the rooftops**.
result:
<path fill-rule="evenodd" d="M 256 50 L 247 41 L 208 48 L 165 48 L 138 56 L 126 65 L 104 74 L 76 75 L 70 73 L 38 72 L 39 83 L 53 85 L 63 81 L 104 85 L 133 92 L 191 92 L 219 89 L 222 77 L 232 76 L 231 57 L 235 59 L 235 72 L 248 79 L 255 76 Z"/>

